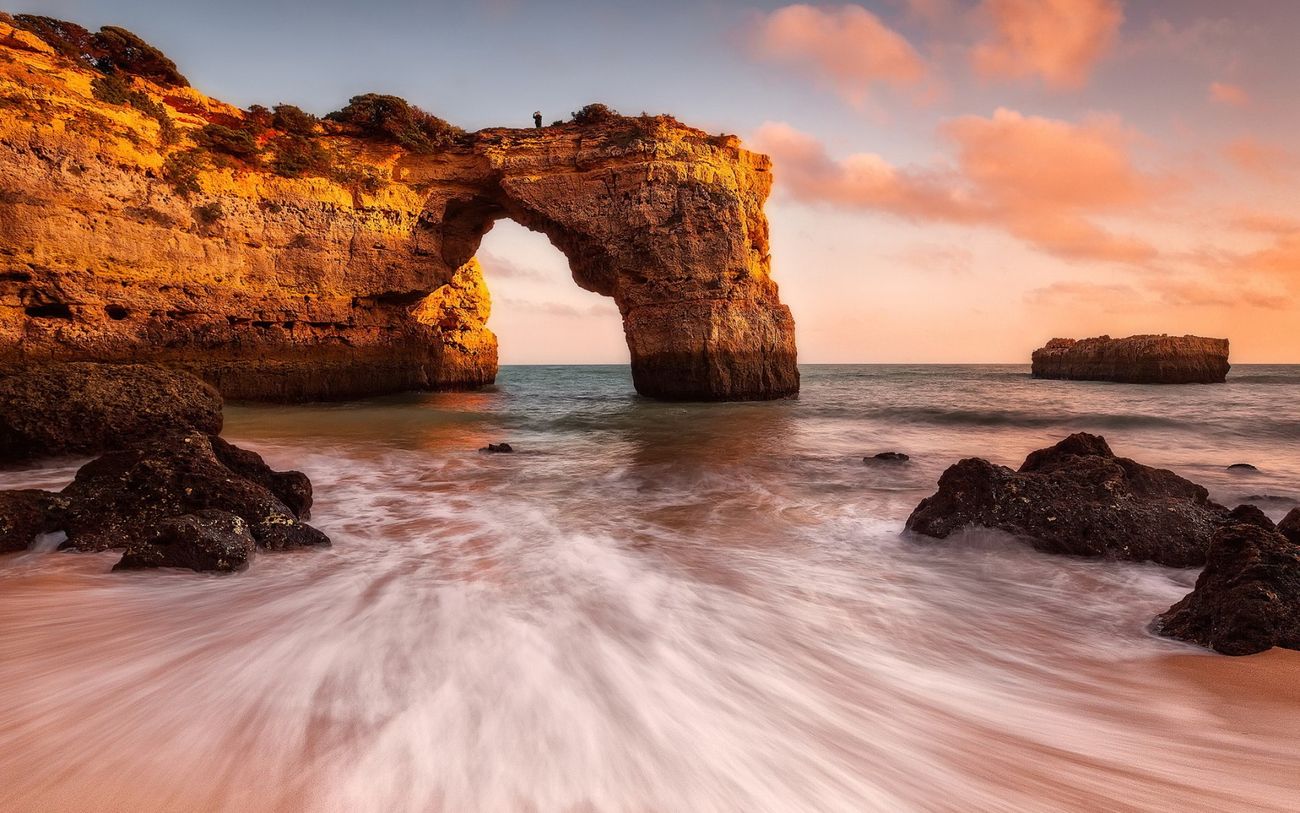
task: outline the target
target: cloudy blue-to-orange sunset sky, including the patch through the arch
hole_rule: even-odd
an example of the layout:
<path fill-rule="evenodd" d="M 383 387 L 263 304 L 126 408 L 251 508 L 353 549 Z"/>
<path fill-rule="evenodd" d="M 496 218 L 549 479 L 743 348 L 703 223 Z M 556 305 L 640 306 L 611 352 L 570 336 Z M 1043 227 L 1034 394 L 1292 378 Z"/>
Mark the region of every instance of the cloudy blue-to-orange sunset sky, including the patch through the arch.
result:
<path fill-rule="evenodd" d="M 770 153 L 800 359 L 1026 362 L 1056 336 L 1300 363 L 1300 3 L 29 0 L 209 95 L 406 96 L 469 129 L 603 101 Z M 480 252 L 502 363 L 628 358 L 541 235 Z"/>

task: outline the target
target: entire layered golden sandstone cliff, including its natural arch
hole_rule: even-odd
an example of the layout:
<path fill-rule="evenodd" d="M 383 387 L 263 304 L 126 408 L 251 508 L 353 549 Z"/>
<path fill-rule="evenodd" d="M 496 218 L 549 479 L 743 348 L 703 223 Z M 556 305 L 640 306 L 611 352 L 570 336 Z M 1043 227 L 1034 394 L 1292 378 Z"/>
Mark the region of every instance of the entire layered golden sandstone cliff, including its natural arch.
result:
<path fill-rule="evenodd" d="M 615 299 L 641 393 L 797 392 L 771 167 L 737 139 L 621 116 L 467 134 L 384 96 L 240 111 L 121 36 L 0 20 L 0 363 L 153 362 L 255 399 L 478 386 L 473 256 L 510 217 Z"/>

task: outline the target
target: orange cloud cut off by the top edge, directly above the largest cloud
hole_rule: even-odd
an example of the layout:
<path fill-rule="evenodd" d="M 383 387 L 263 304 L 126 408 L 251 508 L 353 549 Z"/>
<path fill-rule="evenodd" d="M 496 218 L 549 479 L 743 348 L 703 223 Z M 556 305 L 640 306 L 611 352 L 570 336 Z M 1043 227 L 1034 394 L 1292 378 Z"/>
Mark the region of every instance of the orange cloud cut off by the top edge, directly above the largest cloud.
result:
<path fill-rule="evenodd" d="M 984 0 L 980 12 L 993 36 L 971 53 L 976 73 L 1039 77 L 1056 88 L 1087 85 L 1124 20 L 1117 0 Z"/>

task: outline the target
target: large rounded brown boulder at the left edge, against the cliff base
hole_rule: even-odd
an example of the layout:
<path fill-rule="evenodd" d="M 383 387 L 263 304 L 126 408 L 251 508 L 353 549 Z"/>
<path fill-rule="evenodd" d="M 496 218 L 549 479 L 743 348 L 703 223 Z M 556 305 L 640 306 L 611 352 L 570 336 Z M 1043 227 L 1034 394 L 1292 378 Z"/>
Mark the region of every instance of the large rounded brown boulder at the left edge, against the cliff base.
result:
<path fill-rule="evenodd" d="M 186 372 L 74 362 L 0 369 L 0 464 L 221 432 L 221 395 Z"/>

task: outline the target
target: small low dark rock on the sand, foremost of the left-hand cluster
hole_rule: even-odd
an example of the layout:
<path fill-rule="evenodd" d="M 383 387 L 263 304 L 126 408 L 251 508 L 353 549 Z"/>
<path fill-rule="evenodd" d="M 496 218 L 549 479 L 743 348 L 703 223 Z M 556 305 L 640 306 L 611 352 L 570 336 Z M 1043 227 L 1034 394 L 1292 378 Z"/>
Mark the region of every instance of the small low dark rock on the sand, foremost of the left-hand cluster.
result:
<path fill-rule="evenodd" d="M 164 519 L 151 539 L 129 544 L 113 570 L 187 567 L 234 572 L 248 567 L 255 549 L 248 523 L 226 511 L 204 509 Z"/>

